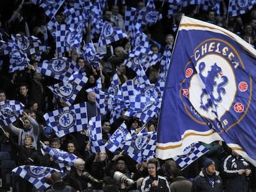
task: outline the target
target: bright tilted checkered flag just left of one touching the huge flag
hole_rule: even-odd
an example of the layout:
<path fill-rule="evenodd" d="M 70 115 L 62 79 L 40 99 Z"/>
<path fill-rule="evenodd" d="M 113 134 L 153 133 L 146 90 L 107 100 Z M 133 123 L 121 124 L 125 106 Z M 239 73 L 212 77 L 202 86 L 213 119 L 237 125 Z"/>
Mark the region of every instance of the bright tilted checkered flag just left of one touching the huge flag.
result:
<path fill-rule="evenodd" d="M 126 123 L 122 123 L 113 135 L 110 136 L 109 140 L 105 143 L 105 147 L 111 151 L 115 152 L 121 144 L 125 143 L 128 140 L 132 139 L 129 130 L 126 127 Z"/>

